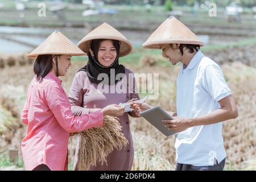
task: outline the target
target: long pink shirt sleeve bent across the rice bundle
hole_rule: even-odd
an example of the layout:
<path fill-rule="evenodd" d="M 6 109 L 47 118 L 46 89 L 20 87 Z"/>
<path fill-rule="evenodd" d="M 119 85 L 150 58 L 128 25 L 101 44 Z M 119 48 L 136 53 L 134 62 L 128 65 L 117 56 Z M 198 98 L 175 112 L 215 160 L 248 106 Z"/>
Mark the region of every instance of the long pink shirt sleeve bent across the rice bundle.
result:
<path fill-rule="evenodd" d="M 69 133 L 102 126 L 103 114 L 101 110 L 90 114 L 82 114 L 81 116 L 73 115 L 71 104 L 64 89 L 56 82 L 49 82 L 45 85 L 44 92 L 49 109 L 61 127 Z"/>

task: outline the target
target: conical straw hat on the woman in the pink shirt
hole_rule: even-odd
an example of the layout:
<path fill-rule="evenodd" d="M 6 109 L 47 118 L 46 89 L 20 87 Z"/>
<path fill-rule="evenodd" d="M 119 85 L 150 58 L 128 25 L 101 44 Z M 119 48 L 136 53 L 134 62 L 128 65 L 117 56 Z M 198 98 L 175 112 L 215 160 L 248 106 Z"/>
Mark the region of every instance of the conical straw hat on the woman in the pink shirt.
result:
<path fill-rule="evenodd" d="M 76 44 L 72 43 L 61 32 L 55 31 L 48 36 L 46 40 L 34 51 L 29 53 L 27 57 L 37 57 L 38 55 L 86 55 Z"/>

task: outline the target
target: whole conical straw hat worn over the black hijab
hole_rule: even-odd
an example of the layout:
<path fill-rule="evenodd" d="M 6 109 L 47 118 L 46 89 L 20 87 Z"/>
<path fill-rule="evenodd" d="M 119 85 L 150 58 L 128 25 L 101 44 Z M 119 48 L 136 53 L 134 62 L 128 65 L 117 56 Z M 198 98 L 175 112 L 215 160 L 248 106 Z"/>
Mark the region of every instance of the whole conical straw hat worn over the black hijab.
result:
<path fill-rule="evenodd" d="M 108 23 L 103 23 L 96 27 L 94 30 L 85 35 L 82 40 L 78 43 L 78 47 L 85 53 L 89 53 L 90 42 L 94 39 L 112 39 L 119 40 L 120 52 L 119 57 L 126 56 L 131 52 L 132 46 L 129 40 L 125 38 L 119 31 Z"/>

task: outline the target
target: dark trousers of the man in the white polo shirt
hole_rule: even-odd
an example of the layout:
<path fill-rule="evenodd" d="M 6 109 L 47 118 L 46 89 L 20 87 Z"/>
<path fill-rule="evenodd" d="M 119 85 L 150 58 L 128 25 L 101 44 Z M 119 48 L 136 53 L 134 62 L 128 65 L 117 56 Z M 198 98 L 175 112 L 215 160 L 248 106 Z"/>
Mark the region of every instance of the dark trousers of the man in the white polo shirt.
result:
<path fill-rule="evenodd" d="M 193 166 L 191 164 L 176 164 L 176 171 L 223 171 L 225 166 L 225 160 L 223 159 L 220 163 L 214 164 L 213 166 Z"/>

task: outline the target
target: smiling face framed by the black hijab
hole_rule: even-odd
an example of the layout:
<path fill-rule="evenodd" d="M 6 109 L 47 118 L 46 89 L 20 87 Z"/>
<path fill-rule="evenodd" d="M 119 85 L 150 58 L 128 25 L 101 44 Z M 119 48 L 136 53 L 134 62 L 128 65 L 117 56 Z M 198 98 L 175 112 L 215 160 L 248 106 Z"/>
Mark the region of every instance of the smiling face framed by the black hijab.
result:
<path fill-rule="evenodd" d="M 101 65 L 109 67 L 117 57 L 117 50 L 113 46 L 112 40 L 103 40 L 98 48 L 98 61 Z"/>

